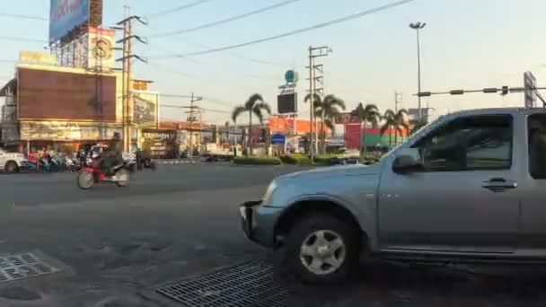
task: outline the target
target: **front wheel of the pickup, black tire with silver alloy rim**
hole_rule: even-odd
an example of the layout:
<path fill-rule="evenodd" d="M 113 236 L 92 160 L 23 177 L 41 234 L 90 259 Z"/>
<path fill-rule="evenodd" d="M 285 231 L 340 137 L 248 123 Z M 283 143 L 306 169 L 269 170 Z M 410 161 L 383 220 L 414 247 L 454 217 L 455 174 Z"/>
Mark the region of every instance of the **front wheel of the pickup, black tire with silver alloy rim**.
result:
<path fill-rule="evenodd" d="M 283 265 L 307 283 L 346 281 L 358 265 L 358 232 L 334 215 L 304 215 L 286 237 Z"/>

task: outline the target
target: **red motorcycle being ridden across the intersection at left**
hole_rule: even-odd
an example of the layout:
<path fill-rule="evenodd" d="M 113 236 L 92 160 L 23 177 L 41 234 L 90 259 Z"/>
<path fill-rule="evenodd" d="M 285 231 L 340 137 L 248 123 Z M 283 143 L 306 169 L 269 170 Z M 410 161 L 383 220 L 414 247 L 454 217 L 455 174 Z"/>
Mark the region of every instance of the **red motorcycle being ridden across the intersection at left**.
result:
<path fill-rule="evenodd" d="M 109 181 L 115 183 L 118 187 L 126 187 L 129 182 L 129 171 L 125 164 L 114 166 L 113 175 L 101 171 L 100 159 L 92 159 L 91 166 L 85 167 L 78 175 L 78 187 L 80 189 L 91 189 L 95 183 Z"/>

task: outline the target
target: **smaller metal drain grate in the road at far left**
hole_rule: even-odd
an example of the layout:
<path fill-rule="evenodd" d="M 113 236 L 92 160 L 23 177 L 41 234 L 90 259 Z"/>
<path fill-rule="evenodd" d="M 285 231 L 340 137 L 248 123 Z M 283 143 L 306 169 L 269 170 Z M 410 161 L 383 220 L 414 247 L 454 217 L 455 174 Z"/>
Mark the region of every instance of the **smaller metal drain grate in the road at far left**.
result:
<path fill-rule="evenodd" d="M 0 283 L 60 271 L 41 261 L 33 253 L 0 257 Z"/>

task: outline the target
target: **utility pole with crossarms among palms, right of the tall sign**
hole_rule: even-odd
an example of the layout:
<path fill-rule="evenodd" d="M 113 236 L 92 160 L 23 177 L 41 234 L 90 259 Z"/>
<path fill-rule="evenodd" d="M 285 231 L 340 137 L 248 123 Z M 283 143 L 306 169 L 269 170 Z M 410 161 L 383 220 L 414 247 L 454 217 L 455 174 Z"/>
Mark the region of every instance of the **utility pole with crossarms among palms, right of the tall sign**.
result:
<path fill-rule="evenodd" d="M 322 66 L 321 65 L 318 65 L 318 66 L 315 66 L 314 65 L 314 58 L 315 57 L 327 57 L 328 54 L 331 53 L 331 48 L 329 48 L 328 46 L 323 46 L 323 47 L 312 47 L 310 46 L 309 47 L 309 94 L 310 94 L 310 100 L 309 100 L 309 124 L 310 124 L 310 145 L 309 145 L 309 149 L 311 151 L 311 162 L 314 161 L 314 154 L 318 151 L 318 148 L 314 148 L 315 146 L 318 146 L 318 142 L 315 142 L 313 140 L 313 130 L 314 130 L 314 122 L 315 122 L 315 118 L 314 118 L 314 106 L 313 106 L 313 101 L 314 101 L 314 94 L 317 93 L 317 92 L 322 92 L 322 88 L 320 89 L 317 89 L 316 88 L 316 81 L 317 79 L 319 79 L 319 82 L 322 83 L 322 80 L 323 80 L 323 76 L 322 75 L 319 75 L 318 77 L 315 77 L 315 70 L 318 70 L 321 74 L 322 74 Z M 318 91 L 317 91 L 318 90 Z M 318 132 L 315 132 L 315 138 L 318 140 Z M 313 144 L 314 143 L 314 144 Z"/>

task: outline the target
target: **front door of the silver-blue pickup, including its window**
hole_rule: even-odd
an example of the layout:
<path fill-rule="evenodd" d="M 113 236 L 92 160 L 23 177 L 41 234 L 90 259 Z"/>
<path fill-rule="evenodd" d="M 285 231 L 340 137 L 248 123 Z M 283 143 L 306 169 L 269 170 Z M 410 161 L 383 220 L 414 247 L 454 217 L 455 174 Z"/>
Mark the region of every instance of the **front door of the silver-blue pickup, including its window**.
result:
<path fill-rule="evenodd" d="M 424 171 L 397 174 L 379 192 L 382 249 L 515 250 L 520 197 L 511 115 L 459 116 L 411 145 Z"/>

